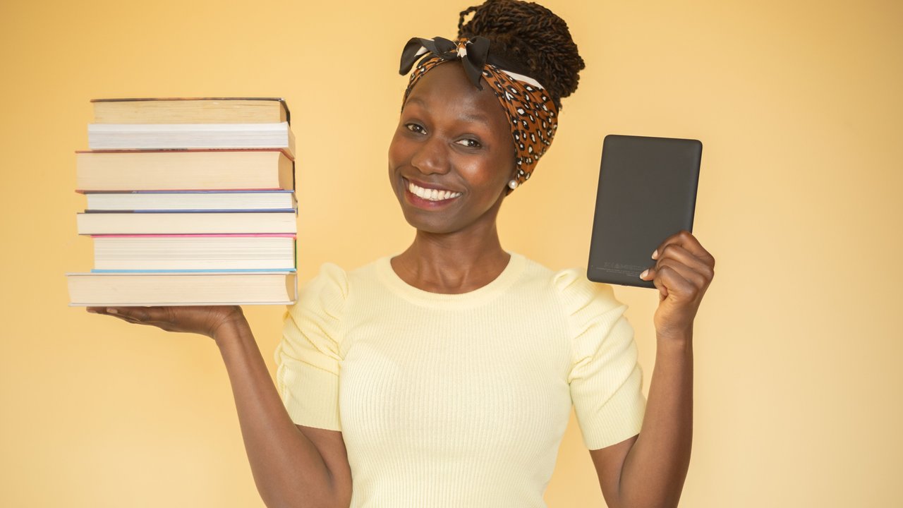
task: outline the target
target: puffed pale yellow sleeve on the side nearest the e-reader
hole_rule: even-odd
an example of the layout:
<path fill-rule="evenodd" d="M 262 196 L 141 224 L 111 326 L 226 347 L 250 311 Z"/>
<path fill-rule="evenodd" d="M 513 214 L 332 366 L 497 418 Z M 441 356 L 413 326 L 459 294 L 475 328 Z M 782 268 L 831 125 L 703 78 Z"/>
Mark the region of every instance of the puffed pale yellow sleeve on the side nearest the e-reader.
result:
<path fill-rule="evenodd" d="M 611 287 L 588 280 L 576 269 L 555 274 L 554 284 L 569 313 L 574 412 L 591 450 L 636 436 L 646 399 L 627 306 Z"/>

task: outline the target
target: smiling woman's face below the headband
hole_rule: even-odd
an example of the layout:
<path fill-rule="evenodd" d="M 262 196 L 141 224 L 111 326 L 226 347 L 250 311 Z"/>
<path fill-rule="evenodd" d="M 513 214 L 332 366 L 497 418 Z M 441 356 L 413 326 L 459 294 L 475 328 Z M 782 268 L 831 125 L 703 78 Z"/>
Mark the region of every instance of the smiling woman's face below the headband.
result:
<path fill-rule="evenodd" d="M 417 81 L 389 146 L 389 179 L 414 228 L 493 225 L 514 162 L 510 127 L 485 82 L 474 87 L 458 62 Z"/>

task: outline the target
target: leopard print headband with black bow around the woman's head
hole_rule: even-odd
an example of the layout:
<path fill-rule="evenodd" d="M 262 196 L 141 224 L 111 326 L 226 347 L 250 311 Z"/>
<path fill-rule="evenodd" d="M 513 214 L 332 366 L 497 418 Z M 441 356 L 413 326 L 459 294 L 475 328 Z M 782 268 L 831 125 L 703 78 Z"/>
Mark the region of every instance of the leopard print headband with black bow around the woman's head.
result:
<path fill-rule="evenodd" d="M 538 81 L 511 71 L 504 71 L 491 62 L 489 40 L 484 37 L 461 38 L 452 42 L 442 37 L 421 39 L 414 37 L 405 44 L 399 73 L 411 71 L 414 61 L 425 55 L 411 73 L 405 89 L 407 101 L 411 89 L 424 74 L 446 61 L 461 61 L 470 82 L 483 89 L 480 78 L 489 83 L 498 103 L 505 111 L 514 141 L 515 181 L 520 184 L 530 179 L 530 174 L 545 154 L 555 129 L 558 128 L 558 108 Z M 513 189 L 508 188 L 510 193 Z"/>

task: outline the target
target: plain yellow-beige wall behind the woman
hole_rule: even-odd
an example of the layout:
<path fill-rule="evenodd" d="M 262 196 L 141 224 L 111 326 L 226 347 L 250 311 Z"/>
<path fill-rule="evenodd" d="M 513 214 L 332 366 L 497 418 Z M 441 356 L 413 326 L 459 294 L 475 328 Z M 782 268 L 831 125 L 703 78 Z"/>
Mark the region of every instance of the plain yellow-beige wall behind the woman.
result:
<path fill-rule="evenodd" d="M 281 96 L 298 138 L 299 272 L 404 249 L 386 182 L 411 36 L 468 6 L 0 3 L 0 505 L 261 506 L 219 354 L 67 306 L 91 268 L 73 152 L 92 98 Z M 903 4 L 569 2 L 587 69 L 503 207 L 507 249 L 584 266 L 602 137 L 695 137 L 694 232 L 718 259 L 697 321 L 684 505 L 903 505 Z M 654 292 L 622 288 L 646 382 Z M 248 307 L 269 358 L 279 307 Z M 573 423 L 546 500 L 602 505 Z"/>

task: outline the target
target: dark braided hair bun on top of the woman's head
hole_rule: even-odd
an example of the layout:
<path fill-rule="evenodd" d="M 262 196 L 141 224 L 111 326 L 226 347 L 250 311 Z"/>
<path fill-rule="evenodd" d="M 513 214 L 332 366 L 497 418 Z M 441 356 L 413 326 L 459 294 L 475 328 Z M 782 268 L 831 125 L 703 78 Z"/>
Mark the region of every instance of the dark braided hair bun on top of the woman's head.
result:
<path fill-rule="evenodd" d="M 470 13 L 473 18 L 465 23 Z M 539 81 L 559 109 L 586 67 L 564 20 L 533 2 L 487 0 L 461 11 L 458 37 L 475 36 L 489 39 L 489 52 L 505 61 L 508 71 Z"/>

